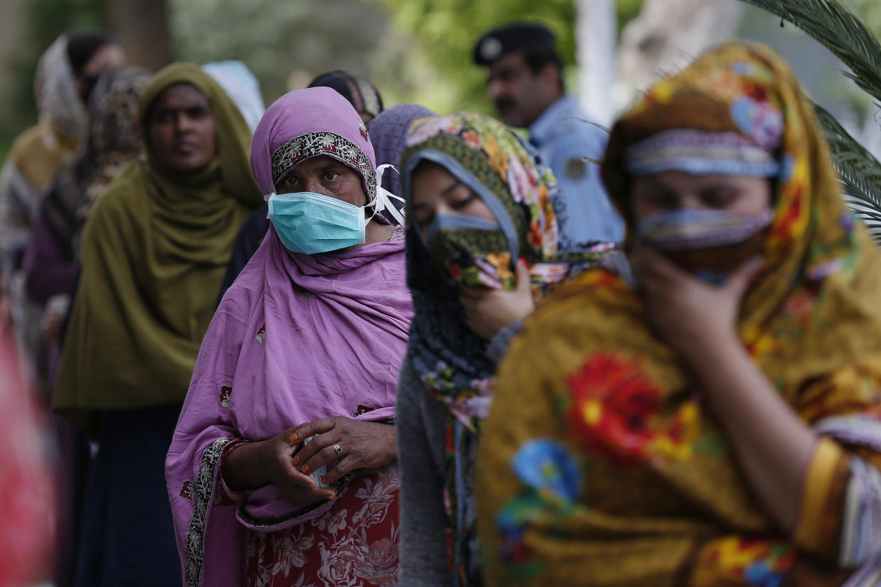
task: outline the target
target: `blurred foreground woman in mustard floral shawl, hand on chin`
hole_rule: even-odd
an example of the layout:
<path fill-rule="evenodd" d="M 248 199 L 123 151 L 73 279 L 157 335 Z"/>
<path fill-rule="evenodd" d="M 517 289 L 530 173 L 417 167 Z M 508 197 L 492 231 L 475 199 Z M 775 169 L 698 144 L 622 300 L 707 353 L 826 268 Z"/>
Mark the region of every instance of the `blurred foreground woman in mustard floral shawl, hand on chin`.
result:
<path fill-rule="evenodd" d="M 881 253 L 796 78 L 758 45 L 702 55 L 618 121 L 603 179 L 640 287 L 582 274 L 502 363 L 476 467 L 488 584 L 877 584 Z M 717 210 L 681 202 L 723 209 L 737 181 L 766 216 L 701 233 Z M 645 185 L 706 246 L 642 217 Z"/>

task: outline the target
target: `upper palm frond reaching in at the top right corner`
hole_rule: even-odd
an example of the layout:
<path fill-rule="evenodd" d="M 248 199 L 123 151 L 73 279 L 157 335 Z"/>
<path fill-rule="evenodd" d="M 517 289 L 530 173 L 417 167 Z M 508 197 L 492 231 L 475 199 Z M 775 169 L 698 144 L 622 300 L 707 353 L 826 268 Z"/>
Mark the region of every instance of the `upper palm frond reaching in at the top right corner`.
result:
<path fill-rule="evenodd" d="M 881 44 L 859 18 L 836 0 L 741 0 L 788 20 L 844 62 L 853 79 L 881 101 Z"/>

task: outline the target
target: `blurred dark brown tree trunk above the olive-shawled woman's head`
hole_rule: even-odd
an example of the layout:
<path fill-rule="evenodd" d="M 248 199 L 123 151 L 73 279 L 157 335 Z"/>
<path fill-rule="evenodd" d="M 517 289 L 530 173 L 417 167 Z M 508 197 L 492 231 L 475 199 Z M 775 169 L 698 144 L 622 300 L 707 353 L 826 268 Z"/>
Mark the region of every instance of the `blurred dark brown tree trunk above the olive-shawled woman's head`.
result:
<path fill-rule="evenodd" d="M 172 61 L 166 0 L 113 0 L 107 12 L 131 65 L 158 71 Z"/>

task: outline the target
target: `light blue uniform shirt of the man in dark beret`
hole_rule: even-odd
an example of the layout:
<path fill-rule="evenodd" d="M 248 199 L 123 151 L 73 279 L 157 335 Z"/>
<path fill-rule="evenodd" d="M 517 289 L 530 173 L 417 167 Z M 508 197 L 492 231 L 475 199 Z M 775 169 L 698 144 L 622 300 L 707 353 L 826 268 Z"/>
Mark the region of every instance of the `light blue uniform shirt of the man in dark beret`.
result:
<path fill-rule="evenodd" d="M 560 249 L 573 251 L 581 245 L 624 240 L 624 221 L 609 201 L 599 165 L 584 158 L 603 158 L 608 134 L 588 122 L 578 102 L 564 96 L 554 102 L 529 127 L 529 142 L 557 178 Z"/>

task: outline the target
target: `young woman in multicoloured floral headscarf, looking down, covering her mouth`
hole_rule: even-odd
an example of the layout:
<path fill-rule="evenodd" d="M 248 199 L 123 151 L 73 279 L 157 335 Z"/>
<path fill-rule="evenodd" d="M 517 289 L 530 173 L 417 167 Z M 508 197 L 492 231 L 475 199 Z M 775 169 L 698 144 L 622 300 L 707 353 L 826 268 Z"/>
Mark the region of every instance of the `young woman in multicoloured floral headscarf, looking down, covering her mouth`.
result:
<path fill-rule="evenodd" d="M 397 395 L 399 579 L 474 585 L 473 457 L 495 361 L 535 303 L 612 246 L 558 254 L 552 173 L 486 116 L 415 121 L 401 165 L 416 316 Z"/>

